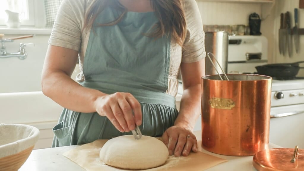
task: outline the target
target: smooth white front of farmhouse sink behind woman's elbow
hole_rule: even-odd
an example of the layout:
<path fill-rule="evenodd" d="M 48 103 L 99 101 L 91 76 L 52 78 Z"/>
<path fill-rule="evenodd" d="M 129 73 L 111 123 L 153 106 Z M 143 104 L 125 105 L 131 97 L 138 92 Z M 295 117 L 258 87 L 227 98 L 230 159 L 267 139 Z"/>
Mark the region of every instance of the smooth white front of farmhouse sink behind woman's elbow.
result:
<path fill-rule="evenodd" d="M 41 91 L 0 93 L 0 105 L 5 124 L 57 121 L 63 109 Z"/>

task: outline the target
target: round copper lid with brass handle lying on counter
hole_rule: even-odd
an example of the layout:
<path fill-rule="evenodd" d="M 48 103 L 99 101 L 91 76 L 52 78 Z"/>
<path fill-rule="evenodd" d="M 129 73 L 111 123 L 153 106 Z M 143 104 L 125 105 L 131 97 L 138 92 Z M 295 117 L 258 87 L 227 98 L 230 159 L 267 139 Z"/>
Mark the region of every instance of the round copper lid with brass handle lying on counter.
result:
<path fill-rule="evenodd" d="M 304 149 L 272 148 L 257 152 L 253 166 L 258 171 L 303 171 Z"/>

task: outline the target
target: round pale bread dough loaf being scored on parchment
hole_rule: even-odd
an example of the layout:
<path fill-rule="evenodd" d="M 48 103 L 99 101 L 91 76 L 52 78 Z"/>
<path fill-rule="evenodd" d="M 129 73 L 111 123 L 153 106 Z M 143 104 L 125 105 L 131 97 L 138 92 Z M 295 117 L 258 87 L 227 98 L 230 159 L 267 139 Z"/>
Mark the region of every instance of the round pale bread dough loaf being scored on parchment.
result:
<path fill-rule="evenodd" d="M 103 145 L 99 157 L 105 164 L 122 169 L 150 169 L 161 166 L 168 159 L 168 148 L 154 137 L 133 135 L 112 138 Z"/>

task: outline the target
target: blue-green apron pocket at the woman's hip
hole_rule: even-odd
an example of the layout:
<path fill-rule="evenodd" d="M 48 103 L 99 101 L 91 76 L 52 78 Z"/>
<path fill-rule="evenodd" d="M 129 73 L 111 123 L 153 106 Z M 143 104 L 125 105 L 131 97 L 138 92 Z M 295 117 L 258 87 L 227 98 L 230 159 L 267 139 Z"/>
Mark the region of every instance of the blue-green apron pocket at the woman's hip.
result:
<path fill-rule="evenodd" d="M 74 124 L 68 127 L 63 127 L 63 121 L 54 126 L 53 132 L 58 140 L 59 146 L 71 145 L 73 130 Z"/>

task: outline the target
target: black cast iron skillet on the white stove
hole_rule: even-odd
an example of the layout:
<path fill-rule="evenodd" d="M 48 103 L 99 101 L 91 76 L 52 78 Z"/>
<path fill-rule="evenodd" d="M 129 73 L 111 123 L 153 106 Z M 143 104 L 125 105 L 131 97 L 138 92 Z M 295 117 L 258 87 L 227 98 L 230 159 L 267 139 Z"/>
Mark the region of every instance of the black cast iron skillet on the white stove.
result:
<path fill-rule="evenodd" d="M 295 63 L 267 64 L 256 66 L 255 68 L 259 75 L 267 75 L 276 79 L 290 79 L 295 78 L 300 68 L 304 68 L 299 67 L 300 63 L 304 63 L 304 61 Z"/>

